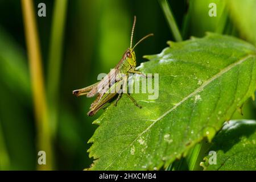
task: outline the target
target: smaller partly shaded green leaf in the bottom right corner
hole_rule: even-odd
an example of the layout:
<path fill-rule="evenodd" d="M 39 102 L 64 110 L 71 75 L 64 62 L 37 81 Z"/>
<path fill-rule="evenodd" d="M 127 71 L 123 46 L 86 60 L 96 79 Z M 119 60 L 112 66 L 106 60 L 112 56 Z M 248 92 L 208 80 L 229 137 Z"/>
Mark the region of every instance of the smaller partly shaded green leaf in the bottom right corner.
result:
<path fill-rule="evenodd" d="M 206 156 L 201 163 L 206 170 L 255 170 L 256 121 L 226 122 L 209 151 L 216 152 L 216 164 L 213 154 Z"/>

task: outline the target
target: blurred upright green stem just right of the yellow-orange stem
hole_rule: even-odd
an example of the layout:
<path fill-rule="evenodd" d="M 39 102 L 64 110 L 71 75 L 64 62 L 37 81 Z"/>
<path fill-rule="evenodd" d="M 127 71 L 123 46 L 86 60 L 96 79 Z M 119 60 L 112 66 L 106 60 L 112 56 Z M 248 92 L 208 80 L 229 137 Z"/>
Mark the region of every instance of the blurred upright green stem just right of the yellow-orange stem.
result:
<path fill-rule="evenodd" d="M 57 90 L 60 82 L 61 55 L 63 51 L 63 34 L 67 11 L 67 0 L 56 0 L 53 9 L 51 43 L 49 46 L 47 96 L 52 135 L 57 125 Z"/>

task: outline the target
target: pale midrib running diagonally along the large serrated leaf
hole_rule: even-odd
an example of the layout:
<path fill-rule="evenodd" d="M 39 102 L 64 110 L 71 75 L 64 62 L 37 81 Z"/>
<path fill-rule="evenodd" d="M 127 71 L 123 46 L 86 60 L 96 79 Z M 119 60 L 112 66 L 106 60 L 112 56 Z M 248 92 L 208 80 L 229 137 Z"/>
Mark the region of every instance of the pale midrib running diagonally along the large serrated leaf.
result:
<path fill-rule="evenodd" d="M 183 100 L 181 100 L 180 102 L 178 102 L 176 105 L 174 105 L 174 107 L 172 107 L 170 110 L 166 111 L 166 113 L 162 114 L 159 118 L 154 119 L 153 123 L 148 126 L 146 128 L 146 130 L 144 130 L 141 134 L 138 135 L 137 138 L 135 138 L 130 144 L 129 146 L 125 147 L 117 157 L 115 157 L 115 159 L 113 160 L 112 163 L 110 163 L 104 170 L 108 169 L 114 162 L 115 160 L 117 160 L 119 158 L 119 156 L 127 149 L 129 148 L 136 140 L 139 139 L 139 137 L 141 137 L 144 133 L 146 133 L 152 126 L 155 125 L 156 122 L 160 121 L 160 119 L 166 117 L 167 114 L 169 114 L 171 111 L 175 110 L 178 106 L 180 106 L 181 104 L 183 104 L 183 102 L 187 101 L 188 98 L 191 98 L 192 96 L 195 96 L 195 94 L 200 93 L 205 86 L 207 86 L 208 84 L 210 84 L 210 82 L 216 80 L 218 77 L 222 76 L 224 73 L 230 71 L 230 69 L 236 67 L 237 65 L 243 63 L 244 61 L 246 61 L 247 59 L 249 59 L 250 57 L 255 57 L 255 55 L 247 55 L 245 57 L 243 57 L 242 59 L 238 60 L 237 62 L 228 65 L 228 67 L 222 69 L 222 71 L 218 72 L 216 75 L 212 76 L 209 80 L 205 81 L 199 88 L 197 88 L 194 92 L 192 92 L 191 94 L 189 94 L 187 97 L 184 97 Z"/>

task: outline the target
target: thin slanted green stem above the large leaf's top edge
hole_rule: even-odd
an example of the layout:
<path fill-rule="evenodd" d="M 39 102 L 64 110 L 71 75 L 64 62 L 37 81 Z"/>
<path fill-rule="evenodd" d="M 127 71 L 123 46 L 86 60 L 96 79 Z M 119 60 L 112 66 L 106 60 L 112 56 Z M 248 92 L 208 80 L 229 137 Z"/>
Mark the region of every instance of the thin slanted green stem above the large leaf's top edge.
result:
<path fill-rule="evenodd" d="M 175 22 L 174 16 L 172 15 L 171 8 L 167 0 L 159 0 L 160 6 L 162 7 L 163 13 L 166 16 L 167 22 L 171 28 L 172 34 L 177 42 L 182 41 L 182 37 Z"/>

